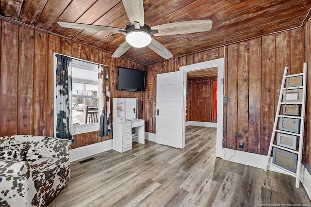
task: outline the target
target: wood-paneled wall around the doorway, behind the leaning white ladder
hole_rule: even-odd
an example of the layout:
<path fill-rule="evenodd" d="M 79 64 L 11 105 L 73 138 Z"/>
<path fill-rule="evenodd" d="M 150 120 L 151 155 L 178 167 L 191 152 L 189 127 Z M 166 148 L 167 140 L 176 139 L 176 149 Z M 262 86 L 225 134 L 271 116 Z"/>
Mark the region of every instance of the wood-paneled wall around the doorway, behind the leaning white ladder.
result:
<path fill-rule="evenodd" d="M 307 31 L 305 36 L 309 39 L 305 47 L 304 28 L 301 27 L 230 44 L 225 46 L 225 49 L 224 47 L 210 49 L 147 65 L 149 84 L 145 94 L 145 99 L 148 100 L 145 105 L 145 117 L 148 119 L 146 131 L 155 133 L 157 73 L 177 71 L 179 66 L 225 57 L 225 96 L 228 98 L 228 103 L 224 104 L 224 147 L 267 155 L 284 67 L 288 66 L 289 74 L 301 73 L 305 60 L 304 48 L 308 50 L 308 58 L 311 62 L 310 29 L 309 20 L 305 29 Z M 308 90 L 309 99 L 310 96 L 310 90 Z M 310 109 L 308 118 L 310 118 Z M 305 136 L 307 141 L 304 160 L 308 159 L 310 163 L 310 126 L 308 123 L 306 128 L 308 131 Z M 238 147 L 240 140 L 244 142 L 243 149 Z"/>

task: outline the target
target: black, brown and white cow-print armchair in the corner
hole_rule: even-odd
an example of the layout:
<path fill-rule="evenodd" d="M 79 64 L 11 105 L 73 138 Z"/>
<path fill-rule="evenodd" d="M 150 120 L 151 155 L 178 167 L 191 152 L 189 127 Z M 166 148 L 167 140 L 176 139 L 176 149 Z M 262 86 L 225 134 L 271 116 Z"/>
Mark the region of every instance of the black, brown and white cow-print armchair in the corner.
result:
<path fill-rule="evenodd" d="M 70 145 L 43 136 L 0 137 L 0 206 L 48 206 L 69 182 Z M 33 148 L 42 158 L 27 159 Z M 6 156 L 10 149 L 14 156 Z"/>

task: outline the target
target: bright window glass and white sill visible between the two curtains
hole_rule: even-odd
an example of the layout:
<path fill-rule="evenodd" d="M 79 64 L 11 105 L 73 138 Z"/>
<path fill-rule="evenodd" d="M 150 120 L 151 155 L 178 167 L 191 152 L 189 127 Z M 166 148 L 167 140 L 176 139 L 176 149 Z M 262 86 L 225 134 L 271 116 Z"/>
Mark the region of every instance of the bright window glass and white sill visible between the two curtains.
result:
<path fill-rule="evenodd" d="M 72 59 L 72 133 L 99 130 L 98 64 Z"/>

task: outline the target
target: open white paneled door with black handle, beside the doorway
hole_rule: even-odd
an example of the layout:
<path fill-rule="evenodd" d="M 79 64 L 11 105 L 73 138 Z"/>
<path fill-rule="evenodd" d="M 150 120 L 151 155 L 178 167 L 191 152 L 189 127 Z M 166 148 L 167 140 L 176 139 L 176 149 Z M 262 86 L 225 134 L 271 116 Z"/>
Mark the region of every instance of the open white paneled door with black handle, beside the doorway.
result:
<path fill-rule="evenodd" d="M 185 147 L 183 93 L 183 71 L 157 74 L 156 143 Z"/>

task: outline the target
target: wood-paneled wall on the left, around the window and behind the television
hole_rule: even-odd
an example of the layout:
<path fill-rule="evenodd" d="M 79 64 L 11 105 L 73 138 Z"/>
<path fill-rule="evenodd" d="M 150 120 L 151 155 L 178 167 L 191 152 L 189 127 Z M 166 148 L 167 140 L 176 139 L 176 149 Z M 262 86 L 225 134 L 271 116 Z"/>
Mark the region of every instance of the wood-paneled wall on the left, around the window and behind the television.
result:
<path fill-rule="evenodd" d="M 54 136 L 53 52 L 108 65 L 111 117 L 112 98 L 133 97 L 139 99 L 139 118 L 144 119 L 143 92 L 116 90 L 117 66 L 143 70 L 141 64 L 4 19 L 0 28 L 0 136 Z M 72 148 L 112 138 L 98 135 L 98 131 L 75 135 Z"/>

